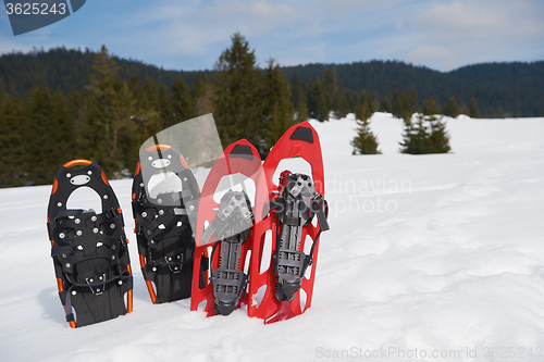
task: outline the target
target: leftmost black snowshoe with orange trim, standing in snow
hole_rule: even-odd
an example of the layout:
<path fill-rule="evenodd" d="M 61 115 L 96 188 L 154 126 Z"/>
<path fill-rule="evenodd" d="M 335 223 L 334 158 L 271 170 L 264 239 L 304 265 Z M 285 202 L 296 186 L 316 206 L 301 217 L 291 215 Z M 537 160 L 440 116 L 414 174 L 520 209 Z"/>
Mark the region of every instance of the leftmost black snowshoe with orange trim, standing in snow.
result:
<path fill-rule="evenodd" d="M 96 192 L 101 212 L 67 208 L 71 195 L 82 188 Z M 119 201 L 102 168 L 87 160 L 61 166 L 54 175 L 47 216 L 59 296 L 70 326 L 129 313 L 128 240 Z"/>

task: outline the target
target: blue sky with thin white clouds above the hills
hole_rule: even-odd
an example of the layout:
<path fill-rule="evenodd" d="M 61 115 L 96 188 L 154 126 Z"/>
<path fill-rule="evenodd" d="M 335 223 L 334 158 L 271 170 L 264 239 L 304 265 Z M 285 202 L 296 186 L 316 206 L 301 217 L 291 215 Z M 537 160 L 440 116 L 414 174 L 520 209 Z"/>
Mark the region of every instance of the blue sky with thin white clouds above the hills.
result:
<path fill-rule="evenodd" d="M 211 70 L 239 32 L 260 66 L 397 60 L 448 72 L 544 60 L 543 18 L 544 0 L 87 0 L 20 36 L 0 12 L 0 53 L 104 45 L 166 70 Z"/>

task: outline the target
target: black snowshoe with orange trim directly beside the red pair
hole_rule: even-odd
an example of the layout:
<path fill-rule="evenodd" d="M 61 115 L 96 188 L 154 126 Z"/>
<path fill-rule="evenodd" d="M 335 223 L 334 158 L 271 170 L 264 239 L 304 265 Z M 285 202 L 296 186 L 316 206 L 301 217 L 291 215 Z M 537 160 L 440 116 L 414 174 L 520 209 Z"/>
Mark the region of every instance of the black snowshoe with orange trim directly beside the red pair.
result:
<path fill-rule="evenodd" d="M 199 188 L 182 153 L 168 145 L 140 152 L 133 214 L 141 274 L 153 303 L 190 297 Z M 195 217 L 196 220 L 196 217 Z"/>

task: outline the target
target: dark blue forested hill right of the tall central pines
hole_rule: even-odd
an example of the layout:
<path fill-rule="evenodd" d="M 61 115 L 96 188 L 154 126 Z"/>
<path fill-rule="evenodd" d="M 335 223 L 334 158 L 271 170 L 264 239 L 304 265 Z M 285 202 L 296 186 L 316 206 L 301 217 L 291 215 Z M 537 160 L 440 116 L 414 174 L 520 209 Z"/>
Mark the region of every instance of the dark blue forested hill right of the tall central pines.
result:
<path fill-rule="evenodd" d="M 484 117 L 539 116 L 544 114 L 544 61 L 534 63 L 485 63 L 441 73 L 403 62 L 371 61 L 351 64 L 307 64 L 283 67 L 287 77 L 297 74 L 302 83 L 322 77 L 332 70 L 337 86 L 360 91 L 367 89 L 379 99 L 398 89 L 415 88 L 420 104 L 431 97 L 446 104 L 450 97 L 469 104 L 474 99 Z"/>

